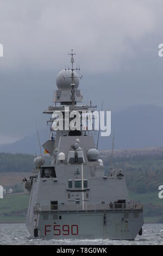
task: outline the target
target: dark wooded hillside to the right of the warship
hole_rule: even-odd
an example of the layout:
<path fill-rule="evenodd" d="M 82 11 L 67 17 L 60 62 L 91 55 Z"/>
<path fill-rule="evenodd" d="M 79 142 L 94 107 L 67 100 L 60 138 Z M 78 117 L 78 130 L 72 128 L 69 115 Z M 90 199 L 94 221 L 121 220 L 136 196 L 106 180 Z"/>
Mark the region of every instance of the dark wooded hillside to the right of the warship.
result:
<path fill-rule="evenodd" d="M 146 193 L 158 191 L 163 185 L 163 156 L 137 155 L 113 157 L 113 167 L 122 169 L 130 191 Z M 110 159 L 104 160 L 105 172 L 108 172 Z"/>

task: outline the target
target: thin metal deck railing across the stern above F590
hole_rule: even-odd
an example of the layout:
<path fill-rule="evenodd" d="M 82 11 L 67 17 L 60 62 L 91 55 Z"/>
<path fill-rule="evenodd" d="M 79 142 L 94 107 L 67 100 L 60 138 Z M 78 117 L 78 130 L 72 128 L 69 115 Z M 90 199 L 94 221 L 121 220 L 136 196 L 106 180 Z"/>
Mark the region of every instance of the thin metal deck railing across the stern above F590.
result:
<path fill-rule="evenodd" d="M 53 211 L 125 211 L 125 210 L 142 210 L 141 203 L 114 203 L 114 204 L 76 204 L 76 205 L 36 205 L 34 212 L 53 212 Z"/>

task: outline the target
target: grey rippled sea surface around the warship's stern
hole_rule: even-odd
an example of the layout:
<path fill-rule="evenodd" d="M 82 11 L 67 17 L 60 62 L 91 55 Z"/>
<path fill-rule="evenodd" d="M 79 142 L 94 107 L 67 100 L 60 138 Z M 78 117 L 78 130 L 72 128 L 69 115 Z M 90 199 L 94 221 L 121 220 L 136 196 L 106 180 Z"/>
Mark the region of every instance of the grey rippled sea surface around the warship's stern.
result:
<path fill-rule="evenodd" d="M 163 224 L 143 225 L 135 241 L 31 239 L 25 224 L 0 224 L 0 245 L 163 245 Z"/>

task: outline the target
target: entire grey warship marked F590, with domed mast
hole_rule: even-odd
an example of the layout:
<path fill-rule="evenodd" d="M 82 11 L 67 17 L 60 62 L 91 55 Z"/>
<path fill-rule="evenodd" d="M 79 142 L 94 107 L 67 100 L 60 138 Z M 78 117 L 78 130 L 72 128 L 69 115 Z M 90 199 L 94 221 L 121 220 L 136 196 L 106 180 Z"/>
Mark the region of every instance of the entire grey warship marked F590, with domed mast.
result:
<path fill-rule="evenodd" d="M 93 131 L 84 130 L 82 125 L 78 130 L 70 126 L 55 129 L 54 123 L 60 118 L 56 113 L 61 113 L 66 123 L 65 107 L 68 114 L 96 109 L 91 102 L 80 103 L 81 77 L 74 69 L 73 51 L 70 57 L 71 68 L 57 75 L 54 105 L 43 112 L 51 115 L 47 120 L 50 137 L 42 145 L 49 154 L 49 164 L 41 153 L 34 159 L 32 174 L 23 181 L 30 193 L 27 229 L 31 237 L 42 239 L 134 240 L 142 235 L 143 206 L 129 200 L 122 170 L 111 167 L 104 172 Z"/>

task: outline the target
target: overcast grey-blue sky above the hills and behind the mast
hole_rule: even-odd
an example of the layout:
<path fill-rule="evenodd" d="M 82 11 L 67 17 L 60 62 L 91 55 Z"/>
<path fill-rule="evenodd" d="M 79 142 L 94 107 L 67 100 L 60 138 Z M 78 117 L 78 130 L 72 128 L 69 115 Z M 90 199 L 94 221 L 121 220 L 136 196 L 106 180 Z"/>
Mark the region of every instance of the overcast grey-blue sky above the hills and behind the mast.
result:
<path fill-rule="evenodd" d="M 1 0 L 0 144 L 46 125 L 58 72 L 77 53 L 84 102 L 163 107 L 163 2 Z"/>

